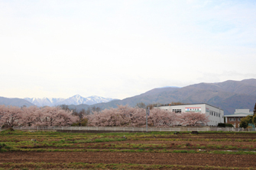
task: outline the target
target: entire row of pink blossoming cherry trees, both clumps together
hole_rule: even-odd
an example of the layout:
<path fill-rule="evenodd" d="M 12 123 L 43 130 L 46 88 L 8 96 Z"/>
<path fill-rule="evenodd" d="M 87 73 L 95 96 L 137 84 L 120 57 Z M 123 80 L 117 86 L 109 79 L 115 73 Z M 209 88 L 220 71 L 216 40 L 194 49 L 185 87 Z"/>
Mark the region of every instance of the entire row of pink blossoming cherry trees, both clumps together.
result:
<path fill-rule="evenodd" d="M 139 107 L 119 105 L 118 108 L 93 111 L 92 114 L 73 114 L 60 107 L 15 107 L 0 105 L 0 126 L 5 127 L 63 127 L 86 120 L 93 127 L 145 127 L 146 110 Z M 209 122 L 206 114 L 180 113 L 151 109 L 147 117 L 150 127 L 170 127 L 176 125 L 195 126 Z M 81 123 L 80 123 L 81 124 Z"/>

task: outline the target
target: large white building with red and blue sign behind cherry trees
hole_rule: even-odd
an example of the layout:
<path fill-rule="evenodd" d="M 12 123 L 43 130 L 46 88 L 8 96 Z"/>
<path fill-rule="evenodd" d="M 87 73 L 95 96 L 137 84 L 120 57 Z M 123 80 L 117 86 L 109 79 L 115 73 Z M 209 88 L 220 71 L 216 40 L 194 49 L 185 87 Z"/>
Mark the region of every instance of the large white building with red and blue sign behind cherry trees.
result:
<path fill-rule="evenodd" d="M 165 111 L 172 111 L 177 114 L 182 112 L 200 112 L 206 114 L 206 116 L 209 116 L 208 126 L 218 126 L 218 123 L 224 123 L 224 111 L 219 107 L 209 104 L 161 104 L 155 107 Z"/>

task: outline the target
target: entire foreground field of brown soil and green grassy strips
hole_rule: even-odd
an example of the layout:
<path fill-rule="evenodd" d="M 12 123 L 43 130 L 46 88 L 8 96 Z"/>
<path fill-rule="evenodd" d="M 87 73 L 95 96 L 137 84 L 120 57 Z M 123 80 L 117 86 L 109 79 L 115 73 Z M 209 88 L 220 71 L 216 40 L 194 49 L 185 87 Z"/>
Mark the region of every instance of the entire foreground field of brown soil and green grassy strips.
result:
<path fill-rule="evenodd" d="M 256 169 L 256 133 L 2 131 L 0 169 Z"/>

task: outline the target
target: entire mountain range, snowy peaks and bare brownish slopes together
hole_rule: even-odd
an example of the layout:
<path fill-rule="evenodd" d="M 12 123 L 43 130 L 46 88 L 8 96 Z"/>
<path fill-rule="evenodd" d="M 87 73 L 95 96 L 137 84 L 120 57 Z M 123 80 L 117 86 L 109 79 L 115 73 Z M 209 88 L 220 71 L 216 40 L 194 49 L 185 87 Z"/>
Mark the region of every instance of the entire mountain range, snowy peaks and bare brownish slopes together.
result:
<path fill-rule="evenodd" d="M 13 100 L 13 102 L 11 102 Z M 28 102 L 28 101 L 30 102 Z M 117 100 L 112 98 L 101 98 L 91 96 L 83 98 L 75 95 L 71 98 L 0 98 L 0 104 L 7 105 L 47 105 L 57 106 L 60 104 L 69 105 L 70 108 L 77 110 L 87 109 L 88 107 L 100 107 L 101 109 L 117 107 L 117 105 L 128 104 L 134 107 L 140 102 L 144 104 L 168 104 L 172 101 L 180 101 L 186 104 L 207 103 L 215 107 L 220 107 L 225 114 L 234 114 L 235 109 L 248 108 L 253 110 L 256 103 L 256 79 L 245 79 L 242 81 L 228 80 L 218 83 L 199 83 L 188 85 L 183 88 L 167 86 L 164 88 L 154 88 L 141 95 L 131 98 Z M 27 103 L 28 102 L 28 103 Z M 103 103 L 104 102 L 104 103 Z"/>

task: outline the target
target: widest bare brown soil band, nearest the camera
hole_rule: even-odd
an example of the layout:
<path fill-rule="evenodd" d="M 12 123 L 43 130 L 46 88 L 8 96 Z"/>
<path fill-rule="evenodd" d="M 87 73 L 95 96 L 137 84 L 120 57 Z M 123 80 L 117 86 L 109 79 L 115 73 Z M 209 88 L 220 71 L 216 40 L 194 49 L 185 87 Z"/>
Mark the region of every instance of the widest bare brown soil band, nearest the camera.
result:
<path fill-rule="evenodd" d="M 151 153 L 151 152 L 0 152 L 0 163 L 6 162 L 85 162 L 132 163 L 144 165 L 210 165 L 256 168 L 256 156 Z"/>

